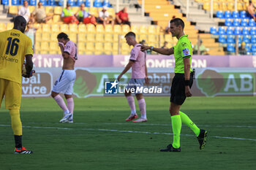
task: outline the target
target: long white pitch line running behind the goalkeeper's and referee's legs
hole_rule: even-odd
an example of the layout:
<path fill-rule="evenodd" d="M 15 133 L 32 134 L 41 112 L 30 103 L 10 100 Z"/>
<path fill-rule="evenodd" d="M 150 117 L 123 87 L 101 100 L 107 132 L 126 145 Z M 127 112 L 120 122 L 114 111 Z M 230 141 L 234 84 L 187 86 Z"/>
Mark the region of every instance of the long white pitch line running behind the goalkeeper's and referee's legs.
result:
<path fill-rule="evenodd" d="M 11 125 L 0 125 L 1 127 L 10 127 Z M 59 128 L 59 127 L 40 127 L 40 126 L 22 126 L 23 128 L 42 128 L 42 129 L 63 129 L 63 130 L 76 130 L 78 128 Z M 80 128 L 81 130 L 86 131 L 112 131 L 120 133 L 132 133 L 132 134 L 163 134 L 163 135 L 173 135 L 170 133 L 160 133 L 160 132 L 149 132 L 149 131 L 120 131 L 113 129 L 102 129 L 102 128 Z M 191 134 L 181 134 L 181 136 L 194 136 Z M 212 138 L 219 139 L 236 139 L 236 140 L 246 140 L 246 141 L 256 141 L 256 139 L 247 139 L 247 138 L 237 138 L 237 137 L 227 137 L 227 136 L 211 136 Z"/>

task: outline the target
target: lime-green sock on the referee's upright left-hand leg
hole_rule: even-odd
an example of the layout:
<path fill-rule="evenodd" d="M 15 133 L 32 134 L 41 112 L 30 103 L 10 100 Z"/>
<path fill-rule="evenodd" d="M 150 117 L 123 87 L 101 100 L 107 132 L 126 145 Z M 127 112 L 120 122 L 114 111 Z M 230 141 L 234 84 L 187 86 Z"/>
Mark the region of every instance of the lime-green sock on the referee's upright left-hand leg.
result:
<path fill-rule="evenodd" d="M 181 116 L 173 115 L 170 117 L 172 120 L 173 128 L 173 147 L 180 147 L 180 134 L 181 134 Z"/>

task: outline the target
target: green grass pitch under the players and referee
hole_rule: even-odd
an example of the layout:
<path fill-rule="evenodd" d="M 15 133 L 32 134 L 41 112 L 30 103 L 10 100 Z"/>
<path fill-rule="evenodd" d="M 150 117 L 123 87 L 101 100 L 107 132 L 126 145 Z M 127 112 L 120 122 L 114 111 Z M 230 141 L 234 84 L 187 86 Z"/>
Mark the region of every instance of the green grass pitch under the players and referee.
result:
<path fill-rule="evenodd" d="M 34 154 L 15 155 L 3 103 L 0 170 L 256 169 L 256 97 L 187 98 L 181 111 L 208 130 L 206 148 L 183 125 L 181 152 L 159 152 L 173 138 L 169 104 L 168 97 L 146 97 L 148 122 L 127 123 L 124 97 L 75 98 L 75 123 L 66 124 L 52 98 L 22 98 L 23 145 Z"/>

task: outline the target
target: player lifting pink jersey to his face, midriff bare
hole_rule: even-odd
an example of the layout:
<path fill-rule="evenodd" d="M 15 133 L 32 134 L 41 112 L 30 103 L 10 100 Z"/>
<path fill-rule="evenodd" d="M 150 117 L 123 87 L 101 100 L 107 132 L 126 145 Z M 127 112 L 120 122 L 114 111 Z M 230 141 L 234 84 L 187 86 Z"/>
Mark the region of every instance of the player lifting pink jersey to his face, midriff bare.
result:
<path fill-rule="evenodd" d="M 72 98 L 73 85 L 75 82 L 76 74 L 74 70 L 75 61 L 77 56 L 77 45 L 69 40 L 69 37 L 65 33 L 60 33 L 57 36 L 59 41 L 59 47 L 61 49 L 61 55 L 63 57 L 62 72 L 58 80 L 56 80 L 51 96 L 59 104 L 59 107 L 64 111 L 64 117 L 60 120 L 61 123 L 73 123 L 73 110 L 74 101 Z M 64 93 L 67 100 L 67 106 L 65 101 L 59 93 Z"/>

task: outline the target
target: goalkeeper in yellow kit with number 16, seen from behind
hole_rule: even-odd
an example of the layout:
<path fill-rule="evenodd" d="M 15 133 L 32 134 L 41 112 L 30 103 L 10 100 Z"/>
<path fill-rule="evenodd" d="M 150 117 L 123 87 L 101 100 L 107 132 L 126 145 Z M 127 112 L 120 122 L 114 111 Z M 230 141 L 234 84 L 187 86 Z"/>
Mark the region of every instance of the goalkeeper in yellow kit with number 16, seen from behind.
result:
<path fill-rule="evenodd" d="M 22 125 L 20 121 L 21 73 L 26 57 L 26 74 L 31 77 L 33 69 L 33 49 L 29 36 L 24 33 L 26 20 L 23 16 L 14 19 L 12 30 L 0 33 L 0 107 L 5 96 L 5 108 L 9 109 L 12 131 L 15 138 L 15 153 L 31 154 L 22 145 Z"/>

